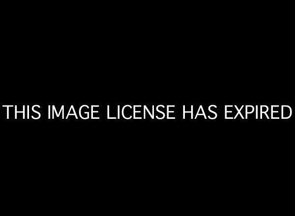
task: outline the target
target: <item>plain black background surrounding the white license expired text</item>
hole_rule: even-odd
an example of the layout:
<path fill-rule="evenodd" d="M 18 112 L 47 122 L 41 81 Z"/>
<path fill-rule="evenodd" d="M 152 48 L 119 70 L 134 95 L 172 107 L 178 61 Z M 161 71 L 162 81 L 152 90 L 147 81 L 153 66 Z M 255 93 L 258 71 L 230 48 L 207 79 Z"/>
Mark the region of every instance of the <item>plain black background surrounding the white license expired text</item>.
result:
<path fill-rule="evenodd" d="M 291 14 L 258 5 L 121 6 L 9 10 L 1 105 L 175 104 L 177 120 L 2 118 L 5 202 L 83 212 L 281 211 L 292 191 L 294 117 L 226 121 L 223 106 L 294 108 Z M 220 108 L 217 120 L 181 120 L 182 105 L 210 104 Z"/>

